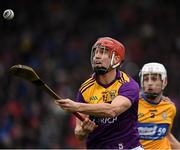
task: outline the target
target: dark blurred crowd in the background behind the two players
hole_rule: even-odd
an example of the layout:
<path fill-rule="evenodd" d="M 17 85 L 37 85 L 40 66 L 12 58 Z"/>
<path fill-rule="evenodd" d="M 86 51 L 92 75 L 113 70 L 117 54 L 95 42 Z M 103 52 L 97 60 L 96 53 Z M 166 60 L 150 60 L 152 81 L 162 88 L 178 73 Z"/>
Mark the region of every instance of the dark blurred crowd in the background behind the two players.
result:
<path fill-rule="evenodd" d="M 15 64 L 32 67 L 62 97 L 75 99 L 91 75 L 90 50 L 110 36 L 126 47 L 122 67 L 138 82 L 139 69 L 160 62 L 168 71 L 165 95 L 177 106 L 172 129 L 180 140 L 180 22 L 176 1 L 2 0 L 0 16 L 0 148 L 83 148 L 75 118 L 42 90 L 11 76 Z"/>

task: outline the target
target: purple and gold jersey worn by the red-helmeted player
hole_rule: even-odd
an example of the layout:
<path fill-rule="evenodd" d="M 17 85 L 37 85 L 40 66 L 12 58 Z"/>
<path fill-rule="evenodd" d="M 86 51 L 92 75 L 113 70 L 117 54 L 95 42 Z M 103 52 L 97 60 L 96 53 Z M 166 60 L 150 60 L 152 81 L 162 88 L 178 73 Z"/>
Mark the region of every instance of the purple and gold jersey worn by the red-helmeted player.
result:
<path fill-rule="evenodd" d="M 88 135 L 88 149 L 131 149 L 140 145 L 137 130 L 139 86 L 126 73 L 117 71 L 116 79 L 108 85 L 100 83 L 93 76 L 80 87 L 77 101 L 89 104 L 111 103 L 118 95 L 127 97 L 132 106 L 114 118 L 90 116 L 98 127 Z"/>

